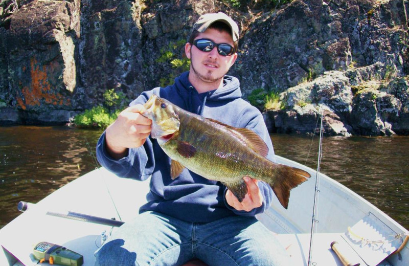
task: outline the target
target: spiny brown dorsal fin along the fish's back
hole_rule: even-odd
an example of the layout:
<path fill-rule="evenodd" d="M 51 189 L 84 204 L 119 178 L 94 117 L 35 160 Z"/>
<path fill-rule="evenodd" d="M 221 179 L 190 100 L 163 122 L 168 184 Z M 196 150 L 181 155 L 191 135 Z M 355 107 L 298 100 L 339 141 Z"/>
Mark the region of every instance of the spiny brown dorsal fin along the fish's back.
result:
<path fill-rule="evenodd" d="M 229 128 L 237 137 L 244 141 L 253 151 L 260 154 L 262 157 L 266 157 L 268 154 L 267 144 L 251 129 L 248 128 L 238 128 L 223 124 L 220 121 L 207 118 L 209 121 L 215 122 L 219 125 Z"/>

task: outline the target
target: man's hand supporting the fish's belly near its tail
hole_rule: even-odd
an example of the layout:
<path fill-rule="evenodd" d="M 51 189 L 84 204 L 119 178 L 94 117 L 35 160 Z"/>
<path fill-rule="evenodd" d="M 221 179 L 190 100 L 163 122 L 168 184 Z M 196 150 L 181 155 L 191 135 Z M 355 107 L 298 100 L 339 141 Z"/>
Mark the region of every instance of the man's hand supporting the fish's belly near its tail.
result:
<path fill-rule="evenodd" d="M 236 210 L 248 212 L 263 204 L 263 195 L 257 186 L 258 180 L 251 179 L 248 176 L 244 176 L 243 179 L 247 185 L 247 194 L 244 196 L 243 201 L 239 202 L 230 189 L 226 192 L 225 197 L 226 202 Z"/>

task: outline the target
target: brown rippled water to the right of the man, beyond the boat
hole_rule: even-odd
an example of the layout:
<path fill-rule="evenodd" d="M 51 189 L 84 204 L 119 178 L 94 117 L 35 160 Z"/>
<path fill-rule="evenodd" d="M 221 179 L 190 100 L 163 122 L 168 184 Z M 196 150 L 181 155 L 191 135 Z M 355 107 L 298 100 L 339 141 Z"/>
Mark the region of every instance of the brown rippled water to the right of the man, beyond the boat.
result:
<path fill-rule="evenodd" d="M 317 136 L 271 135 L 276 154 L 316 169 Z M 325 137 L 320 171 L 409 229 L 409 137 Z"/>

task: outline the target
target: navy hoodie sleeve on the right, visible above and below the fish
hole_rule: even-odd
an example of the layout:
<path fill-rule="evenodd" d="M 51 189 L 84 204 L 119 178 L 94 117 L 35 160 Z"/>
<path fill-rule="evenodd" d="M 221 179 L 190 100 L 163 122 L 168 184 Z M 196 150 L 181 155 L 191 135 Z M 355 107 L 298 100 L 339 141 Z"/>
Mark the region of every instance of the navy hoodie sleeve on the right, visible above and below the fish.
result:
<path fill-rule="evenodd" d="M 238 117 L 240 118 L 240 121 L 238 123 L 239 127 L 245 127 L 245 128 L 255 131 L 257 135 L 259 135 L 264 140 L 264 142 L 267 144 L 268 154 L 266 158 L 272 162 L 276 162 L 270 135 L 265 125 L 263 116 L 259 112 L 259 110 L 256 109 L 256 107 L 251 106 L 251 108 L 245 108 L 242 114 L 240 114 Z M 258 187 L 261 191 L 261 194 L 263 195 L 263 204 L 260 207 L 254 208 L 253 210 L 249 212 L 238 211 L 234 209 L 233 207 L 231 207 L 226 202 L 225 197 L 224 197 L 224 203 L 226 207 L 232 210 L 237 215 L 242 215 L 242 216 L 255 216 L 256 214 L 263 213 L 266 209 L 270 207 L 274 193 L 272 189 L 270 188 L 270 186 L 263 181 L 258 182 Z M 226 191 L 227 191 L 227 188 L 224 190 L 224 196 L 226 194 Z"/>

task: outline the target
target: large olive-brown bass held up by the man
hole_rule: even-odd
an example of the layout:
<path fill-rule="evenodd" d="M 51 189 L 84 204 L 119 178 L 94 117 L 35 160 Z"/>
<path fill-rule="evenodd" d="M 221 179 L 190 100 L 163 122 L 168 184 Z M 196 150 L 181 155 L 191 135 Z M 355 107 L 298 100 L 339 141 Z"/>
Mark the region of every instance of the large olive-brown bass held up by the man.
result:
<path fill-rule="evenodd" d="M 228 187 L 241 202 L 247 193 L 243 176 L 266 182 L 287 209 L 290 190 L 311 175 L 265 157 L 268 147 L 252 130 L 206 119 L 152 95 L 143 116 L 152 120 L 151 137 L 171 160 L 171 178 L 186 167 Z"/>

